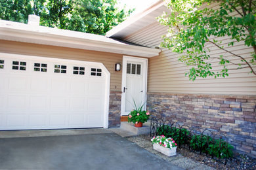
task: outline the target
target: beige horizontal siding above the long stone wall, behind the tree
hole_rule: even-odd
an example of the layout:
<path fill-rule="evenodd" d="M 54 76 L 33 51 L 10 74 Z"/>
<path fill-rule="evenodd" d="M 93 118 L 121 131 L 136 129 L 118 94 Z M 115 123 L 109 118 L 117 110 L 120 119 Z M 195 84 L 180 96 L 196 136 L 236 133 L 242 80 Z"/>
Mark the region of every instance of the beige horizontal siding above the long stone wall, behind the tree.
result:
<path fill-rule="evenodd" d="M 212 7 L 216 7 L 213 5 Z M 154 22 L 139 31 L 125 37 L 125 41 L 142 44 L 155 48 L 162 42 L 161 36 L 167 33 L 167 27 Z M 221 37 L 223 46 L 228 46 L 230 39 Z M 230 54 L 219 50 L 213 44 L 206 44 L 210 47 L 211 57 L 217 57 L 220 54 L 231 57 Z M 226 47 L 234 54 L 251 58 L 252 48 L 244 46 L 242 42 L 234 46 Z M 188 71 L 184 63 L 178 61 L 179 54 L 171 50 L 162 49 L 160 56 L 148 60 L 148 92 L 167 92 L 167 93 L 205 93 L 205 94 L 241 94 L 256 95 L 256 76 L 248 74 L 249 69 L 230 70 L 226 78 L 197 78 L 194 82 L 188 80 L 184 73 Z M 230 61 L 238 63 L 240 59 L 231 58 Z M 218 59 L 213 59 L 213 70 L 219 71 Z M 228 68 L 234 68 L 234 65 L 228 65 Z M 255 67 L 256 69 L 256 67 Z"/>

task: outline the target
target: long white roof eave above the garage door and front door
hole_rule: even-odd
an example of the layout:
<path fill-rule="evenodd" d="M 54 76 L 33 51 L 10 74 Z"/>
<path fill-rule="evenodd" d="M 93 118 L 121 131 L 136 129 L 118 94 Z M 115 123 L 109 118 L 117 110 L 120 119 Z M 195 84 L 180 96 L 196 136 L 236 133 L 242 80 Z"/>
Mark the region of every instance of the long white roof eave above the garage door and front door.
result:
<path fill-rule="evenodd" d="M 83 50 L 95 50 L 99 52 L 110 52 L 130 56 L 151 58 L 158 56 L 161 50 L 128 44 L 116 44 L 112 42 L 94 41 L 90 39 L 79 39 L 68 37 L 68 35 L 54 35 L 53 33 L 41 33 L 9 27 L 0 27 L 0 39 L 7 41 L 30 42 L 34 44 L 45 44 L 78 48 Z"/>

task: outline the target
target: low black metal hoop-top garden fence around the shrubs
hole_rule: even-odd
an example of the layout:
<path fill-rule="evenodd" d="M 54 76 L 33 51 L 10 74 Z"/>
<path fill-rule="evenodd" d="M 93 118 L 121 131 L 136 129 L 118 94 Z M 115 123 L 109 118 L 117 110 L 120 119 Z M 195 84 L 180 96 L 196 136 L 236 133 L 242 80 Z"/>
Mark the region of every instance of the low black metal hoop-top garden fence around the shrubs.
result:
<path fill-rule="evenodd" d="M 150 121 L 150 136 L 165 135 L 177 143 L 178 148 L 187 148 L 197 154 L 211 156 L 214 160 L 226 165 L 232 158 L 232 146 L 223 133 L 210 129 L 189 127 L 181 123 L 171 123 L 169 120 L 152 117 Z"/>

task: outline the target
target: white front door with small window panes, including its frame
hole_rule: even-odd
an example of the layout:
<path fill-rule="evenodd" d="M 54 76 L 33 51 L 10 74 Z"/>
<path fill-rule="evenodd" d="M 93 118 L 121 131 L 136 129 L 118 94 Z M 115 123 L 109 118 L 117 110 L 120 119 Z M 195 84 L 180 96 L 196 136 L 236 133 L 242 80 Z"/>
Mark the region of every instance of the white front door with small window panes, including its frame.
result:
<path fill-rule="evenodd" d="M 146 109 L 147 59 L 123 56 L 121 115 L 127 115 L 135 105 Z"/>

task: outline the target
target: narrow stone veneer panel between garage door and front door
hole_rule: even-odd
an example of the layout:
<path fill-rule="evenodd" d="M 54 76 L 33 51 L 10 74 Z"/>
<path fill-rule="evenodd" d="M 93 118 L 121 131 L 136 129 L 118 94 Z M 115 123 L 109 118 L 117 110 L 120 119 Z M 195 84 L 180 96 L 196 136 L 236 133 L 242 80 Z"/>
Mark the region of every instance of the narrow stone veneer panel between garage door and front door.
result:
<path fill-rule="evenodd" d="M 108 127 L 119 127 L 121 118 L 121 92 L 110 92 Z"/>

